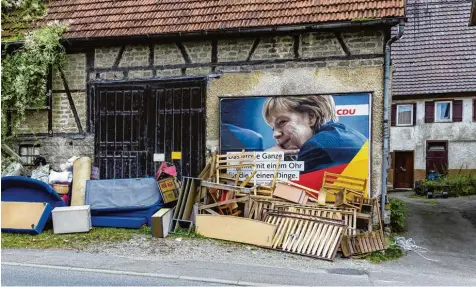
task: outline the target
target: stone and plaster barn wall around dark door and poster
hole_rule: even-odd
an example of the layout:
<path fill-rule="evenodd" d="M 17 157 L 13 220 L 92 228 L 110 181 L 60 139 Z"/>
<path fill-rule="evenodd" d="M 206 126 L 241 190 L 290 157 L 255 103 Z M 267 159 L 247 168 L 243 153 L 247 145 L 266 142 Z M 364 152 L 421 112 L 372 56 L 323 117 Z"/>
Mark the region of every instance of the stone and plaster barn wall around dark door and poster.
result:
<path fill-rule="evenodd" d="M 335 59 L 345 57 L 345 52 L 334 33 L 304 33 L 297 39 L 297 47 L 293 36 L 218 39 L 216 67 L 211 64 L 212 42 L 207 39 L 186 41 L 179 45 L 176 42 L 157 42 L 152 47 L 97 47 L 92 59 L 94 66 L 86 67 L 85 54 L 71 54 L 68 55 L 65 74 L 69 88 L 75 90 L 73 98 L 83 129 L 86 129 L 87 83 L 104 80 L 164 79 L 212 73 L 219 75 L 218 79 L 209 79 L 207 88 L 206 137 L 209 148 L 218 144 L 219 96 L 373 92 L 372 189 L 374 194 L 377 194 L 380 189 L 382 160 L 384 32 L 368 30 L 342 33 L 342 40 L 353 56 L 372 53 L 377 55 L 372 59 Z M 252 53 L 254 43 L 258 45 Z M 118 61 L 122 50 L 123 54 Z M 184 57 L 183 53 L 188 57 Z M 334 59 L 323 58 L 329 56 Z M 250 62 L 246 62 L 249 57 Z M 150 59 L 153 60 L 152 63 Z M 273 62 L 274 60 L 279 62 Z M 194 67 L 187 67 L 187 61 Z M 93 155 L 92 134 L 88 134 L 85 139 L 72 139 L 72 145 L 68 142 L 71 139 L 64 135 L 59 136 L 58 133 L 76 133 L 77 128 L 64 87 L 58 78 L 54 80 L 54 90 L 53 132 L 58 136 L 44 138 L 40 142 L 45 145 L 42 152 L 48 160 L 55 163 L 64 162 L 75 152 Z M 43 122 L 41 125 L 44 127 Z M 52 144 L 57 138 L 66 147 L 62 147 L 62 151 L 56 154 L 50 151 L 58 148 L 58 145 Z M 77 144 L 82 141 L 85 142 L 84 145 Z"/>

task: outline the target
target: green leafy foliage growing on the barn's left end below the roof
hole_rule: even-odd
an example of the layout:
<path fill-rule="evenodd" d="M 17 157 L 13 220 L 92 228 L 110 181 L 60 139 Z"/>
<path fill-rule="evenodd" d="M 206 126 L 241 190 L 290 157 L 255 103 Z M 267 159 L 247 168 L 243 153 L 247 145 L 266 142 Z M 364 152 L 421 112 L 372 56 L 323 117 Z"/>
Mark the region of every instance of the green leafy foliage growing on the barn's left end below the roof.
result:
<path fill-rule="evenodd" d="M 14 135 L 25 119 L 26 109 L 45 104 L 50 67 L 62 66 L 65 59 L 61 44 L 65 29 L 53 23 L 31 30 L 25 34 L 21 48 L 2 57 L 2 141 L 6 140 L 9 109 L 15 112 L 11 123 Z"/>

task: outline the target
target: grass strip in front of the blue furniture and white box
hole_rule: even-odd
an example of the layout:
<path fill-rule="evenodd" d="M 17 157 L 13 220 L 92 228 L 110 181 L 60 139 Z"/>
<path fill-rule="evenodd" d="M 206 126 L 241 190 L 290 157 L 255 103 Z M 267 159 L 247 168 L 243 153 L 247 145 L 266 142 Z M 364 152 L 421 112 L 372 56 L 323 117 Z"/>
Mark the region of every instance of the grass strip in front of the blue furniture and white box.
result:
<path fill-rule="evenodd" d="M 68 249 L 98 243 L 128 241 L 137 234 L 150 234 L 150 227 L 140 229 L 93 228 L 88 233 L 54 234 L 53 229 L 38 235 L 2 233 L 2 248 Z"/>

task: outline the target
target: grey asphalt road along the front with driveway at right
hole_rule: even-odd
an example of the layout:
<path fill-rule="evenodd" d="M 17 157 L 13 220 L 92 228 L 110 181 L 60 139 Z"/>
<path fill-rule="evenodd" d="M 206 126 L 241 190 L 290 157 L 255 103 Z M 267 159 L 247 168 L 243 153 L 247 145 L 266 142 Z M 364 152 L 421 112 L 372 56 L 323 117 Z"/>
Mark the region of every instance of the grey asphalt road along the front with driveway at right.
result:
<path fill-rule="evenodd" d="M 156 253 L 151 256 L 141 253 L 143 249 L 152 252 L 164 248 L 149 246 L 147 244 L 157 242 L 143 240 L 137 243 L 137 248 L 115 247 L 125 248 L 127 254 L 123 255 L 114 254 L 114 249 L 94 253 L 2 249 L 1 283 L 5 286 L 476 286 L 476 226 L 471 217 L 471 212 L 474 214 L 476 210 L 476 196 L 428 200 L 408 195 L 393 193 L 390 196 L 408 203 L 408 231 L 403 236 L 412 238 L 422 249 L 408 251 L 396 261 L 370 264 L 338 258 L 327 262 L 280 254 L 282 260 L 276 264 L 268 261 L 274 253 L 258 250 L 258 255 L 253 255 L 245 247 L 242 247 L 245 253 L 234 251 L 240 247 L 222 248 L 221 252 L 239 255 L 227 261 L 188 256 L 200 248 L 216 252 L 218 245 L 208 246 L 205 242 L 194 242 L 203 246 L 185 246 L 186 253 L 162 258 Z M 221 258 L 226 254 L 217 255 Z M 254 256 L 254 260 L 261 261 L 246 261 L 244 256 Z"/>

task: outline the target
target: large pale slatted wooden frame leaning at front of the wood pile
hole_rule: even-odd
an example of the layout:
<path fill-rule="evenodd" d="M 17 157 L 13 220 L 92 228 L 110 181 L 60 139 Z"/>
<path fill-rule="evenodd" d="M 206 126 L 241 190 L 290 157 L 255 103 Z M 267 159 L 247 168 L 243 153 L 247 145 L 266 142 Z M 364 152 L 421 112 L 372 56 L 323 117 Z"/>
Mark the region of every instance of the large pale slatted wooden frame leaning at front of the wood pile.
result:
<path fill-rule="evenodd" d="M 273 249 L 331 261 L 347 228 L 336 221 L 311 214 L 269 212 L 266 217 L 267 223 L 277 226 Z"/>

